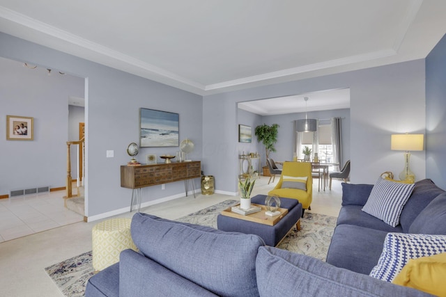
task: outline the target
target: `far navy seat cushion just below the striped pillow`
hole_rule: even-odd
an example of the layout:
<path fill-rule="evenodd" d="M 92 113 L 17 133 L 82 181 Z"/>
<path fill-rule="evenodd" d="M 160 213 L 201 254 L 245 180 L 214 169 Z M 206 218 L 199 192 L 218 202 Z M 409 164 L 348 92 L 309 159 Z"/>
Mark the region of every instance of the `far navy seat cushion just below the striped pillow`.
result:
<path fill-rule="evenodd" d="M 362 206 L 360 205 L 346 205 L 342 207 L 337 218 L 337 225 L 357 225 L 386 232 L 402 232 L 401 225 L 392 227 L 384 223 L 383 220 L 362 211 Z"/>

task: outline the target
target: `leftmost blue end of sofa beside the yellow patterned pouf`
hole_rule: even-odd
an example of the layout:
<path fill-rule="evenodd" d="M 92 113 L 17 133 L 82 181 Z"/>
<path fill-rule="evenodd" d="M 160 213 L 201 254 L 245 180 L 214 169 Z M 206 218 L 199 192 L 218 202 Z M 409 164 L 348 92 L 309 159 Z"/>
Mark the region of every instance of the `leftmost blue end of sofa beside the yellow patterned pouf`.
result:
<path fill-rule="evenodd" d="M 85 296 L 119 297 L 119 262 L 93 275 L 86 284 Z"/>

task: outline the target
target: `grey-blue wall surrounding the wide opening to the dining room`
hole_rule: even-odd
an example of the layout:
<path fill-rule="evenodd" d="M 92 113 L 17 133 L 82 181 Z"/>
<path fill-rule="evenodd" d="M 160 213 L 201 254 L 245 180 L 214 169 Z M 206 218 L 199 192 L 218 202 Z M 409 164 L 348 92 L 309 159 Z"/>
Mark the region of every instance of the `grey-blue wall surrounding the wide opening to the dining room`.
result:
<path fill-rule="evenodd" d="M 203 98 L 203 159 L 224 190 L 236 193 L 237 103 L 350 88 L 351 181 L 376 182 L 384 171 L 403 170 L 403 152 L 390 150 L 390 135 L 425 129 L 424 60 L 208 95 Z M 217 148 L 218 159 L 211 157 Z M 413 152 L 411 168 L 425 177 L 425 152 Z"/>

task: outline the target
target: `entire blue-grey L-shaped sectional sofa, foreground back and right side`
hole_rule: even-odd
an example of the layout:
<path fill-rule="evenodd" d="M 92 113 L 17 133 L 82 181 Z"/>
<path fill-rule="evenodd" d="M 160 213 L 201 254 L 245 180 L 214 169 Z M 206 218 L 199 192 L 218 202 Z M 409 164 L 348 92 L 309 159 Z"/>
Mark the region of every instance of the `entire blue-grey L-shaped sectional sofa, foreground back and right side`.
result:
<path fill-rule="evenodd" d="M 371 187 L 344 184 L 344 207 L 328 256 L 333 265 L 265 246 L 254 234 L 135 214 L 131 232 L 140 252 L 121 252 L 119 263 L 89 280 L 86 297 L 430 296 L 366 275 L 378 261 L 384 234 L 392 231 L 384 230 L 385 226 L 374 229 L 380 223 L 372 218 L 362 222 L 364 214 L 357 209 L 367 200 Z M 433 196 L 443 195 L 429 181 L 418 183 L 414 193 L 418 192 L 420 197 L 415 195 L 415 200 L 408 202 L 402 225 L 394 230 L 420 231 L 420 226 L 414 225 L 423 221 L 417 218 L 420 212 L 427 209 Z M 369 242 L 373 242 L 371 249 Z"/>

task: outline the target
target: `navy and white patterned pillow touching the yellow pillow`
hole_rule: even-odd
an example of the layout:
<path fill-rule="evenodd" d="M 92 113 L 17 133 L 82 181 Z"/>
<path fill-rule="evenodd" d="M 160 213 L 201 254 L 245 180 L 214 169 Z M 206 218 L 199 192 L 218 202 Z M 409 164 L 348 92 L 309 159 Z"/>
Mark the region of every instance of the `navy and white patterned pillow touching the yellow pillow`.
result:
<path fill-rule="evenodd" d="M 410 259 L 446 252 L 446 235 L 388 233 L 370 276 L 392 282 Z"/>

